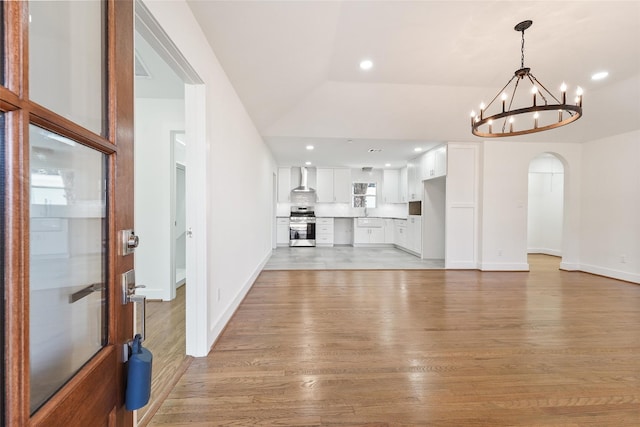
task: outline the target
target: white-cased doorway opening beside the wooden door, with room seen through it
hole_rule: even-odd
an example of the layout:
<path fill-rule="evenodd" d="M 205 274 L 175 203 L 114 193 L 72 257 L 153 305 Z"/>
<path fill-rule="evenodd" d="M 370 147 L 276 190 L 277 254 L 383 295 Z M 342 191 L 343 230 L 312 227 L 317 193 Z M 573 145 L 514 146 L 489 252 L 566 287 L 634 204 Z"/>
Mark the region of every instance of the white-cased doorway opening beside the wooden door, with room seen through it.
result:
<path fill-rule="evenodd" d="M 154 355 L 151 399 L 137 413 L 145 425 L 188 366 L 187 355 L 202 353 L 206 231 L 196 217 L 206 191 L 205 104 L 196 72 L 146 6 L 135 5 L 135 229 L 143 242 L 135 269 L 146 286 L 145 346 Z"/>

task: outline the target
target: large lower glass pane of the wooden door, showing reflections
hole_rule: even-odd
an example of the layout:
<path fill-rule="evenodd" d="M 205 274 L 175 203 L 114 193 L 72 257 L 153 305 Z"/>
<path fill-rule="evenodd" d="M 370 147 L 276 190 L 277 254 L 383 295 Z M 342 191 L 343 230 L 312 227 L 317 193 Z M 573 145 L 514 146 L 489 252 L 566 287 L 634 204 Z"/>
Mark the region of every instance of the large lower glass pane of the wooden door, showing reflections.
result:
<path fill-rule="evenodd" d="M 106 156 L 31 125 L 30 375 L 37 410 L 106 343 Z"/>

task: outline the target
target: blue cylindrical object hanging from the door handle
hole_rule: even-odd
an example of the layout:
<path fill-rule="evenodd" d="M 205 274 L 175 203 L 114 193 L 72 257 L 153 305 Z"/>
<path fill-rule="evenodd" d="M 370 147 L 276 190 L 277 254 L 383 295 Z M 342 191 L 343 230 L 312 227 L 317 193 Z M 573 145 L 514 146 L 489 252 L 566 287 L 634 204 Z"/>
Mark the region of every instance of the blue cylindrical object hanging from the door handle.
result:
<path fill-rule="evenodd" d="M 132 353 L 127 372 L 125 406 L 129 411 L 140 409 L 149 403 L 151 397 L 151 365 L 153 355 L 142 347 L 142 336 L 133 338 Z"/>

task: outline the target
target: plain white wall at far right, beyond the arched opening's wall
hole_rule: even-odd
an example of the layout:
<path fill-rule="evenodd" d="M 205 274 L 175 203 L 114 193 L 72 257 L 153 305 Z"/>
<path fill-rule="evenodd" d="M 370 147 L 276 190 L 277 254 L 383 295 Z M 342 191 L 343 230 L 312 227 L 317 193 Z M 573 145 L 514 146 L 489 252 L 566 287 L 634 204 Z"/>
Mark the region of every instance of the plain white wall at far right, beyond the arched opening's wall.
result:
<path fill-rule="evenodd" d="M 580 268 L 640 283 L 640 131 L 583 145 Z"/>

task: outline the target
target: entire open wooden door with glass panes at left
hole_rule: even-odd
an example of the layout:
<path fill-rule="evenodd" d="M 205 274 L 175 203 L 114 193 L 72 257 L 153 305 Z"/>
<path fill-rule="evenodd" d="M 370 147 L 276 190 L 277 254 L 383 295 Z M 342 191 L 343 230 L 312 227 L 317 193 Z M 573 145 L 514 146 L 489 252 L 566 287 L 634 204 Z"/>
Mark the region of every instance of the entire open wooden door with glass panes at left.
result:
<path fill-rule="evenodd" d="M 129 426 L 133 3 L 1 6 L 3 422 Z"/>

